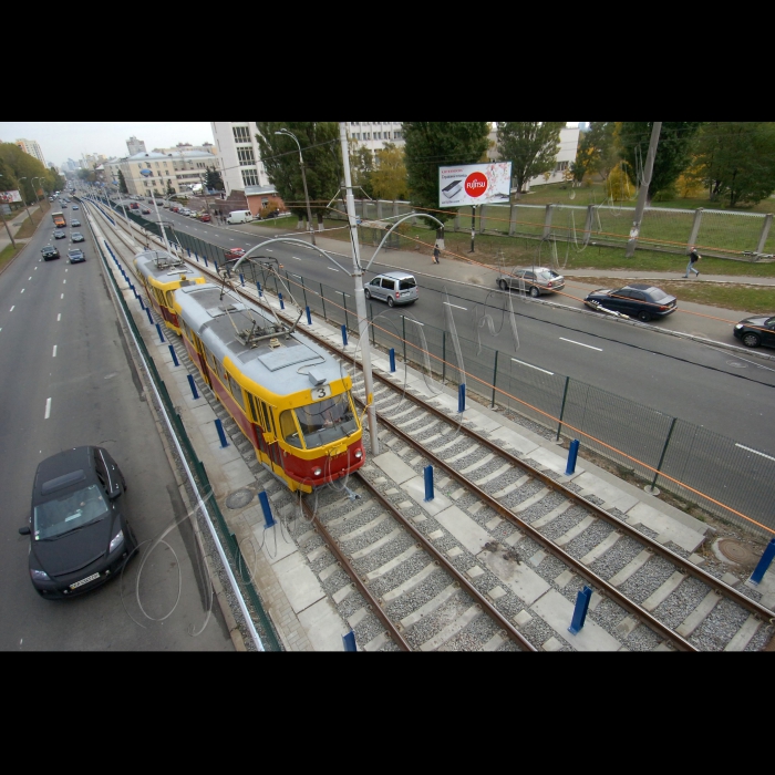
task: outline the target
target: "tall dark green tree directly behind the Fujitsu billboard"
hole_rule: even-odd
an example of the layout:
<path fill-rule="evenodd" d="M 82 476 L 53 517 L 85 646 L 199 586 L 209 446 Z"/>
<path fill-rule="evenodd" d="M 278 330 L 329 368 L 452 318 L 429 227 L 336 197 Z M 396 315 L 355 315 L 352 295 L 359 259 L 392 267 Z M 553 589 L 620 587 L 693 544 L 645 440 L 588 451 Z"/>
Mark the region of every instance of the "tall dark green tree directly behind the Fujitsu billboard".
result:
<path fill-rule="evenodd" d="M 488 147 L 489 122 L 407 121 L 403 133 L 412 203 L 442 221 L 453 218 L 455 211 L 438 209 L 438 167 L 480 162 Z"/>

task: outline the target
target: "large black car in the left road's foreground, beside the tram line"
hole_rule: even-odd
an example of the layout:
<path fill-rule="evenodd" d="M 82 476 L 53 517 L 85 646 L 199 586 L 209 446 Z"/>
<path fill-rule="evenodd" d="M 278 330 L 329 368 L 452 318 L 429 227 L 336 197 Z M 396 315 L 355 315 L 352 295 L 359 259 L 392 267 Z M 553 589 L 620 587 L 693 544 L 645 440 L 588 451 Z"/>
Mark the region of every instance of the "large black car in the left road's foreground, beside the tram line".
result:
<path fill-rule="evenodd" d="M 30 578 L 41 597 L 87 592 L 121 572 L 137 542 L 116 499 L 124 477 L 106 450 L 80 446 L 38 465 L 32 487 Z"/>

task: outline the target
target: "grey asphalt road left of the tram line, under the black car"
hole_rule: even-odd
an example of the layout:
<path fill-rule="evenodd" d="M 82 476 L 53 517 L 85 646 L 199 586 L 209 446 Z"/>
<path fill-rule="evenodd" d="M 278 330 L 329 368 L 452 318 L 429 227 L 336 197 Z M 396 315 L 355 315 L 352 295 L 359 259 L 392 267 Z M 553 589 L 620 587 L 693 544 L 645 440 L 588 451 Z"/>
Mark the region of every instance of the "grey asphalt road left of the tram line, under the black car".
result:
<path fill-rule="evenodd" d="M 60 208 L 54 203 L 53 210 Z M 220 610 L 209 616 L 195 539 L 151 410 L 128 358 L 83 210 L 63 210 L 65 239 L 41 225 L 0 275 L 0 649 L 232 650 Z M 70 265 L 70 220 L 80 216 L 85 264 Z M 63 258 L 44 262 L 52 244 Z M 28 572 L 28 524 L 38 463 L 99 444 L 122 468 L 123 508 L 148 545 L 179 523 L 122 579 L 68 601 L 46 601 Z M 179 589 L 179 600 L 176 602 Z M 206 623 L 207 622 L 207 623 Z M 193 636 L 193 632 L 204 631 Z"/>

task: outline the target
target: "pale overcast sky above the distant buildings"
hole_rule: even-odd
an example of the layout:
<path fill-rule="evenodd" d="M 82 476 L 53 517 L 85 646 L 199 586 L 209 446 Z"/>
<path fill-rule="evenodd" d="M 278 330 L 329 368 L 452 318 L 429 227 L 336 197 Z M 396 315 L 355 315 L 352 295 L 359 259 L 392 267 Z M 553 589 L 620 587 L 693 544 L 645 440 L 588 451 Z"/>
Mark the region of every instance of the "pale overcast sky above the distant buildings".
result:
<path fill-rule="evenodd" d="M 46 164 L 56 166 L 69 158 L 78 162 L 83 154 L 126 156 L 126 141 L 133 135 L 144 140 L 148 151 L 214 142 L 209 121 L 0 121 L 0 142 L 37 140 Z"/>

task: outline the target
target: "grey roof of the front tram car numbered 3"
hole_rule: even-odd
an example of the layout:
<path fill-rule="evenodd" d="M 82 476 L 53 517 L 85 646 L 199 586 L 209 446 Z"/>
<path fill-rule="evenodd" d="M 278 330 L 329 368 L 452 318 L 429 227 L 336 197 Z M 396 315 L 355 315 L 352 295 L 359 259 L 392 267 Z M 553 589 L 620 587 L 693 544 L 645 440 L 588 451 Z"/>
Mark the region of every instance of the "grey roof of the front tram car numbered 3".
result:
<path fill-rule="evenodd" d="M 311 390 L 314 384 L 308 374 L 310 370 L 326 383 L 344 375 L 326 350 L 298 333 L 290 338 L 277 334 L 280 345 L 276 348 L 269 345 L 268 339 L 257 347 L 245 344 L 237 338 L 235 327 L 241 331 L 250 329 L 254 320 L 261 326 L 276 321 L 250 302 L 228 296 L 221 299 L 220 292 L 219 286 L 206 283 L 182 288 L 176 296 L 184 320 L 219 361 L 230 358 L 245 376 L 280 395 Z"/>

